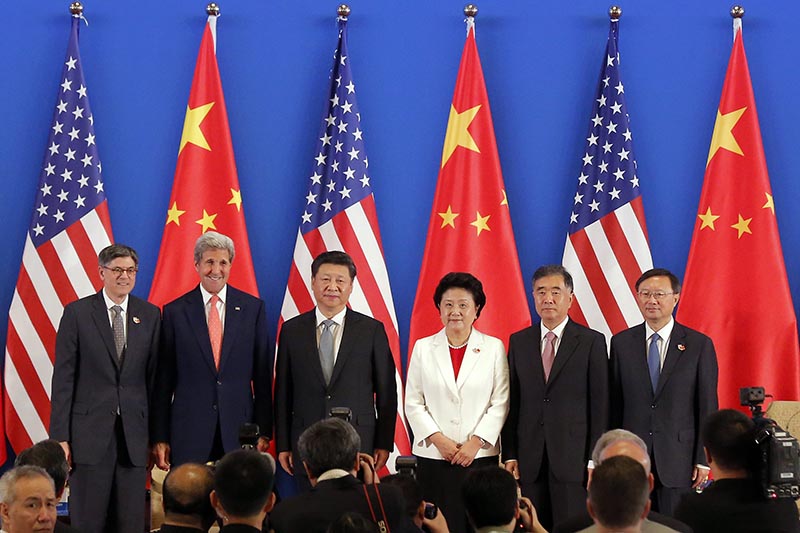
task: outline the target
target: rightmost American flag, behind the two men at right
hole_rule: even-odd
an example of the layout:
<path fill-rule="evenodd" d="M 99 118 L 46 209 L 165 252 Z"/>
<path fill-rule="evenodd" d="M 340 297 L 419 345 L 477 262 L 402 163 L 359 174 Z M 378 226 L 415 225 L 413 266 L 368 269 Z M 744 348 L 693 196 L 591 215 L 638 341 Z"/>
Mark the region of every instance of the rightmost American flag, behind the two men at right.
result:
<path fill-rule="evenodd" d="M 611 21 L 563 260 L 575 283 L 570 316 L 608 340 L 642 322 L 633 286 L 653 268 L 619 73 L 618 26 Z"/>

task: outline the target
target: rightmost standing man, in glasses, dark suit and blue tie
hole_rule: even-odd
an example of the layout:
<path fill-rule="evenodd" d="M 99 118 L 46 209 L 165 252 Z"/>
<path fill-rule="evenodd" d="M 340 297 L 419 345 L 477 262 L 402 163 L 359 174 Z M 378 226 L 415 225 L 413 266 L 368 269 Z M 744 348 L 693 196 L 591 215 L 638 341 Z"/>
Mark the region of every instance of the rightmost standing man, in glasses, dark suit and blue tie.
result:
<path fill-rule="evenodd" d="M 669 270 L 642 274 L 636 294 L 645 321 L 611 338 L 611 424 L 647 444 L 653 509 L 670 516 L 708 479 L 700 428 L 717 410 L 714 343 L 672 318 L 680 291 Z"/>

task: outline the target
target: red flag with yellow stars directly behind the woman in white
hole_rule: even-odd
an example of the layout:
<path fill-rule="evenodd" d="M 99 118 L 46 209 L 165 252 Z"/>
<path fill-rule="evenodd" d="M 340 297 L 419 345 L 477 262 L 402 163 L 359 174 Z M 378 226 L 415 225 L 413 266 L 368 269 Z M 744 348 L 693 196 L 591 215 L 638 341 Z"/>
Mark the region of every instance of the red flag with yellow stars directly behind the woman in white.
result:
<path fill-rule="evenodd" d="M 433 293 L 442 276 L 454 271 L 469 272 L 483 283 L 486 307 L 475 322 L 478 330 L 507 345 L 511 333 L 530 326 L 472 17 L 444 138 L 409 354 L 417 339 L 442 329 Z"/>

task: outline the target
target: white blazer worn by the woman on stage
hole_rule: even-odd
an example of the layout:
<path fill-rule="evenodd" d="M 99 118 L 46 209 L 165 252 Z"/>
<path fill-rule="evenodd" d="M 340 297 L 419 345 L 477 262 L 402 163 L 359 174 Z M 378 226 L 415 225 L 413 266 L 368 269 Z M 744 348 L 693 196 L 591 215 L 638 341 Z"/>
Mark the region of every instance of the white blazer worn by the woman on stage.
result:
<path fill-rule="evenodd" d="M 428 437 L 441 431 L 458 443 L 477 435 L 487 442 L 478 457 L 500 453 L 508 415 L 508 360 L 500 339 L 473 328 L 455 379 L 445 330 L 419 339 L 406 378 L 406 418 L 414 432 L 412 453 L 443 459 Z"/>

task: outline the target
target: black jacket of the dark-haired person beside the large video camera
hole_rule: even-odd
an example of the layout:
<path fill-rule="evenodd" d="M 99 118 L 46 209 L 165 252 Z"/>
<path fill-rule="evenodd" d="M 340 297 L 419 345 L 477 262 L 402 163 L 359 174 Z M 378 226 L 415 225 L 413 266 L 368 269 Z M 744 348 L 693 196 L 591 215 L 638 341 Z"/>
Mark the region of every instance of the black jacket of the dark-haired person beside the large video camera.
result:
<path fill-rule="evenodd" d="M 720 479 L 701 494 L 687 494 L 675 508 L 675 518 L 695 533 L 800 531 L 794 500 L 767 500 L 750 479 Z"/>

